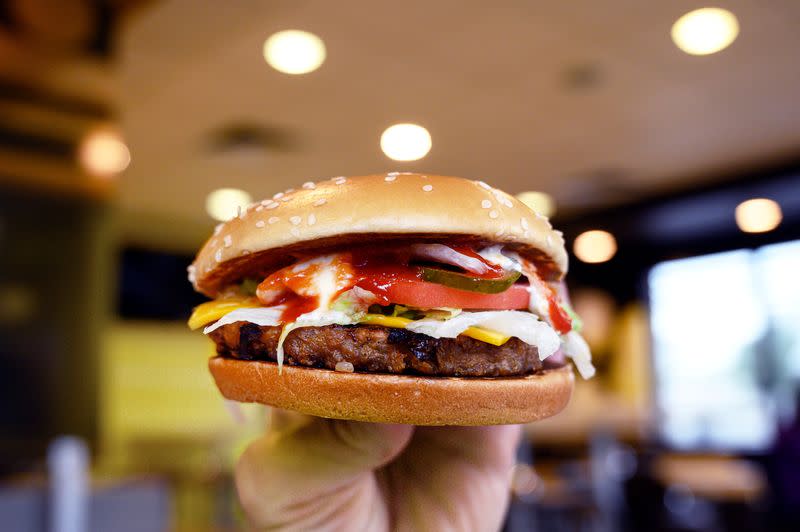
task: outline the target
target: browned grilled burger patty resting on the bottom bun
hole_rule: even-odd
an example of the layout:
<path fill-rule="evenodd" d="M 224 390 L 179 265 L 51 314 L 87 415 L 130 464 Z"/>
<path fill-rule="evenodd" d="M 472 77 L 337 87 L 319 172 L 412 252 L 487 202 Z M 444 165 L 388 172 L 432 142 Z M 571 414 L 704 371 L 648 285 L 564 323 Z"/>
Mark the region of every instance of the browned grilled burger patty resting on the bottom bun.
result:
<path fill-rule="evenodd" d="M 280 327 L 236 322 L 209 336 L 220 356 L 275 361 L 280 332 Z M 507 377 L 542 369 L 536 347 L 519 338 L 495 346 L 466 336 L 433 338 L 375 325 L 302 327 L 289 333 L 283 350 L 285 364 L 335 369 L 349 362 L 355 371 L 370 373 Z"/>

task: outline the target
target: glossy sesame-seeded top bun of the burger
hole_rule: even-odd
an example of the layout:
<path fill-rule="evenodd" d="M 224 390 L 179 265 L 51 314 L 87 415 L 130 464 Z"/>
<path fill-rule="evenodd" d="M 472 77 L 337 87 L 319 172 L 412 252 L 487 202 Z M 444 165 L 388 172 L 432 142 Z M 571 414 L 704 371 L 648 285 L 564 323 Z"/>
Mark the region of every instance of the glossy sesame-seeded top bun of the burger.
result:
<path fill-rule="evenodd" d="M 541 214 L 483 181 L 391 172 L 307 182 L 254 203 L 220 224 L 189 267 L 195 289 L 266 276 L 298 255 L 377 242 L 498 243 L 550 279 L 567 271 L 560 231 Z"/>

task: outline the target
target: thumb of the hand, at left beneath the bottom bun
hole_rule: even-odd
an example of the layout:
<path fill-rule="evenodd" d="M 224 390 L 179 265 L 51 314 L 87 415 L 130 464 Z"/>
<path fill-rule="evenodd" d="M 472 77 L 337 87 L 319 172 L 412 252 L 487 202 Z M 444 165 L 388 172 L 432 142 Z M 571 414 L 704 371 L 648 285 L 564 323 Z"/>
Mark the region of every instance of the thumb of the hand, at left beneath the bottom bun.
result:
<path fill-rule="evenodd" d="M 307 528 L 374 489 L 373 470 L 406 447 L 413 427 L 339 421 L 275 411 L 269 432 L 236 465 L 236 488 L 257 526 Z"/>

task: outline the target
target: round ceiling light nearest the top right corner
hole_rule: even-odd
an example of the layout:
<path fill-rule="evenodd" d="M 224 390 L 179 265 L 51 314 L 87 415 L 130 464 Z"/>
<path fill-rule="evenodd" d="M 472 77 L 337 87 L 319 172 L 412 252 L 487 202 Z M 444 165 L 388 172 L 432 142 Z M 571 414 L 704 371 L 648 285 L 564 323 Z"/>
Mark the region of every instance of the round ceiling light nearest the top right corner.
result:
<path fill-rule="evenodd" d="M 724 50 L 739 35 L 736 15 L 719 7 L 690 11 L 672 25 L 675 45 L 691 55 L 708 55 Z"/>

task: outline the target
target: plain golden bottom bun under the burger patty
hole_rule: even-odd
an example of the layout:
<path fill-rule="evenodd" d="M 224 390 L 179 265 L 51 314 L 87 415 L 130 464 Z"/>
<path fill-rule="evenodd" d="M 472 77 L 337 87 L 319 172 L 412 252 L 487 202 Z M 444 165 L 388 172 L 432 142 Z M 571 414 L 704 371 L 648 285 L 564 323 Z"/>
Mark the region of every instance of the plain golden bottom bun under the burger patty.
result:
<path fill-rule="evenodd" d="M 222 395 L 313 416 L 408 425 L 505 425 L 559 413 L 572 395 L 572 367 L 524 377 L 418 377 L 345 373 L 215 357 Z"/>

